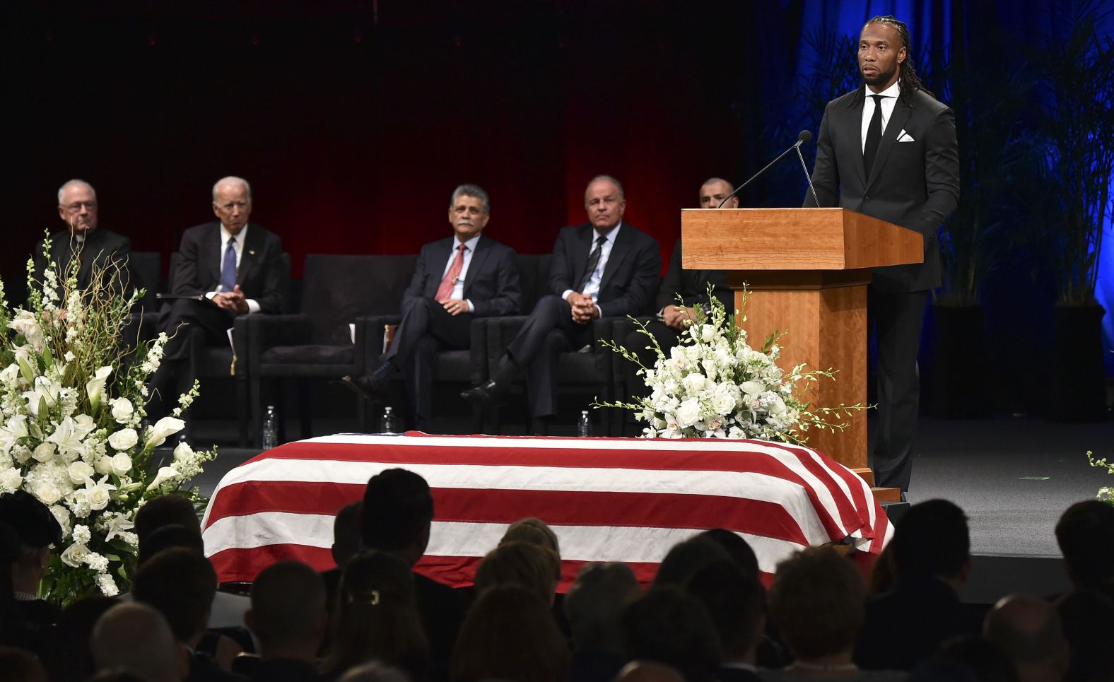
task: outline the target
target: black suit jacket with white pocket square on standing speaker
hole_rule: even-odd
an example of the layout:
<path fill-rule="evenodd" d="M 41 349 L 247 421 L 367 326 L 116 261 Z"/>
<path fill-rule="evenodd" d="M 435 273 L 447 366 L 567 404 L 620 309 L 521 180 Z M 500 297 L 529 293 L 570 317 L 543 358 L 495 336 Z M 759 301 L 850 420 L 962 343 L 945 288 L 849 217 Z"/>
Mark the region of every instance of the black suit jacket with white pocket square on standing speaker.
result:
<path fill-rule="evenodd" d="M 878 156 L 866 177 L 862 110 L 866 86 L 828 103 L 817 142 L 812 184 L 821 206 L 841 206 L 919 232 L 925 262 L 874 271 L 882 291 L 925 291 L 940 285 L 936 231 L 959 202 L 959 145 L 951 109 L 927 92 L 899 97 L 886 124 Z M 905 131 L 912 142 L 897 142 Z M 805 206 L 815 206 L 811 193 Z"/>

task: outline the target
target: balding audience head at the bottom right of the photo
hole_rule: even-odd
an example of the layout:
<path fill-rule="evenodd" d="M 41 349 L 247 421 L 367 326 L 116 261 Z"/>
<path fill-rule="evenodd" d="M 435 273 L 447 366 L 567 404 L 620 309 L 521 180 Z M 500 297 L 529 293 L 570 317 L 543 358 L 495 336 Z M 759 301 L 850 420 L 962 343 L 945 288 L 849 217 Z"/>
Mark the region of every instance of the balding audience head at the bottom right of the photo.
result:
<path fill-rule="evenodd" d="M 1023 680 L 1062 680 L 1067 672 L 1069 651 L 1059 615 L 1044 600 L 1003 597 L 986 615 L 983 635 L 1001 647 Z"/>

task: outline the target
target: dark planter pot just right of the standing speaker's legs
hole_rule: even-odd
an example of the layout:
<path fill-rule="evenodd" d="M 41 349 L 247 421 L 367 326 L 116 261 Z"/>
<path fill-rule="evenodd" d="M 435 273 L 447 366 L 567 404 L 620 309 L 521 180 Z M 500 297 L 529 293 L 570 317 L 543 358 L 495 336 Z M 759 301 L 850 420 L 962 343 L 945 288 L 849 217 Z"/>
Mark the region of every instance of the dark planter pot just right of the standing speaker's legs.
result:
<path fill-rule="evenodd" d="M 994 415 L 989 353 L 980 305 L 934 305 L 936 352 L 931 400 L 934 417 L 985 419 Z"/>

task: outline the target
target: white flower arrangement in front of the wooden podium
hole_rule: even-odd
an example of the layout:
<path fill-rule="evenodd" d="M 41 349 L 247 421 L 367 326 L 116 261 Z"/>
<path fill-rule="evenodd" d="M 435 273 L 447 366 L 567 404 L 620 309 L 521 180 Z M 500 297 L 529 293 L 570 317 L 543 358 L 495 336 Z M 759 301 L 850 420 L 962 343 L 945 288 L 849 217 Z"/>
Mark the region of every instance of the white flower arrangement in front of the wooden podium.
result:
<path fill-rule="evenodd" d="M 746 294 L 744 292 L 744 301 Z M 771 334 L 761 350 L 747 344 L 746 332 L 735 324 L 709 289 L 707 312 L 694 306 L 694 320 L 682 334 L 680 344 L 666 355 L 661 344 L 634 320 L 657 351 L 654 367 L 612 341 L 602 343 L 639 366 L 651 394 L 635 402 L 594 402 L 635 412 L 646 422 L 645 438 L 754 438 L 804 444 L 810 428 L 843 430 L 850 411 L 862 405 L 813 407 L 802 400 L 820 378 L 834 380 L 836 370 L 809 370 L 803 364 L 784 372 L 778 360 L 778 341 L 785 332 Z M 745 303 L 744 303 L 745 305 Z M 745 318 L 742 318 L 745 320 Z"/>

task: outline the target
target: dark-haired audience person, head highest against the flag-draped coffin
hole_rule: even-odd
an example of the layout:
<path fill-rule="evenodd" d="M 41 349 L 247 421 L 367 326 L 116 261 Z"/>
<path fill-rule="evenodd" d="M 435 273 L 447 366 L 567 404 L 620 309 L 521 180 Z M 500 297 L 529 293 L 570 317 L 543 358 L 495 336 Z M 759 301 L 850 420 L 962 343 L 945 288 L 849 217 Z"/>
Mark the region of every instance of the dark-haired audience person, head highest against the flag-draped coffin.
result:
<path fill-rule="evenodd" d="M 426 553 L 433 524 L 433 496 L 421 476 L 387 469 L 368 481 L 363 494 L 363 546 L 392 554 L 413 566 Z M 418 614 L 429 639 L 431 682 L 449 679 L 452 646 L 468 611 L 459 591 L 414 573 Z"/>

